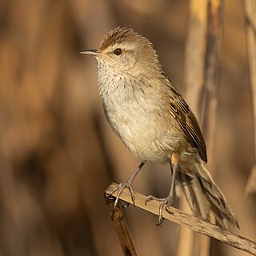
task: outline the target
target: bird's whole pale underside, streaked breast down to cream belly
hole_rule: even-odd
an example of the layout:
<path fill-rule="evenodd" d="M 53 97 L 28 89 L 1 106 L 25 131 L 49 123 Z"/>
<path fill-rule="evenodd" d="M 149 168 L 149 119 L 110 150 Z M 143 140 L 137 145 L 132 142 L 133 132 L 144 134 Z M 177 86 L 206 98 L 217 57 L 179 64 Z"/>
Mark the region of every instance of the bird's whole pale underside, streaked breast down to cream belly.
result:
<path fill-rule="evenodd" d="M 99 86 L 106 119 L 122 142 L 142 161 L 166 162 L 182 133 L 167 110 L 162 113 L 161 102 L 128 78 L 116 76 Z"/>

